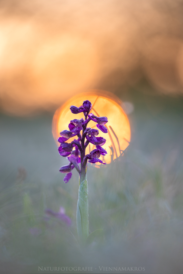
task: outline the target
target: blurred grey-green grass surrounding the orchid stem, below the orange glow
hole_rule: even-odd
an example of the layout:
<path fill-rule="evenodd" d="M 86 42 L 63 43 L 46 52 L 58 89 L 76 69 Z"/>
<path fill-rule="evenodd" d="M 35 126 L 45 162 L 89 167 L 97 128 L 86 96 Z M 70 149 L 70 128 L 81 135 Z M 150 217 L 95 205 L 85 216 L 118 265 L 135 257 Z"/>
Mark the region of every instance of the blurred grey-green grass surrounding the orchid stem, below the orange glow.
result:
<path fill-rule="evenodd" d="M 164 97 L 157 113 L 151 110 L 160 97 L 150 103 L 152 95 L 138 96 L 124 96 L 135 106 L 124 156 L 99 169 L 88 165 L 90 233 L 103 228 L 104 241 L 84 250 L 77 244 L 78 175 L 63 183 L 59 167 L 67 160 L 57 153 L 51 117 L 1 116 L 1 273 L 38 273 L 38 266 L 93 266 L 98 273 L 102 265 L 182 273 L 182 101 Z M 70 228 L 46 218 L 46 208 L 60 206 Z"/>

